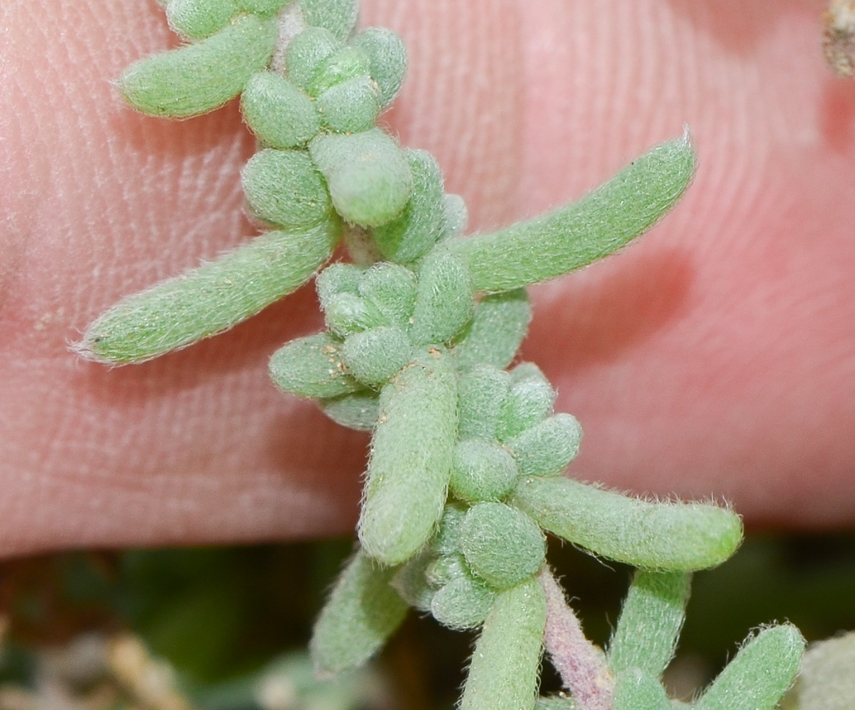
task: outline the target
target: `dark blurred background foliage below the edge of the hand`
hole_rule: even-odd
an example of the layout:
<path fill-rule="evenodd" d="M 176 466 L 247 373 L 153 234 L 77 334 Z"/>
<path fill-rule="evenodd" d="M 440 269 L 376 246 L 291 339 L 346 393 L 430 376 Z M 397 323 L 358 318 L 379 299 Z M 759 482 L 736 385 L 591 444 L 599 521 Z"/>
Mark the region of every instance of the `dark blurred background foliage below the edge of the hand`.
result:
<path fill-rule="evenodd" d="M 0 710 L 451 710 L 474 637 L 416 614 L 365 672 L 316 680 L 304 648 L 350 539 L 44 555 L 0 563 Z M 631 571 L 552 541 L 604 644 Z M 752 535 L 693 581 L 667 682 L 687 699 L 758 625 L 855 629 L 855 534 Z M 558 689 L 544 666 L 545 692 Z"/>

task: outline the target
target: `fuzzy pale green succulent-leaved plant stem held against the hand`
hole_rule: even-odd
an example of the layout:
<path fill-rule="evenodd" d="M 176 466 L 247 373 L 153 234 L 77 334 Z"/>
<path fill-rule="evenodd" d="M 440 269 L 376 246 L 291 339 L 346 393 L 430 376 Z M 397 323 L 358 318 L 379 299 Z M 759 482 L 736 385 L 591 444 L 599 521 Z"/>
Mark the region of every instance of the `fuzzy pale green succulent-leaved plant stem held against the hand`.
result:
<path fill-rule="evenodd" d="M 188 44 L 133 64 L 121 91 L 168 118 L 240 96 L 260 147 L 241 177 L 270 229 L 118 303 L 78 351 L 145 361 L 234 326 L 317 274 L 327 330 L 274 353 L 271 376 L 339 424 L 373 432 L 359 549 L 311 642 L 318 670 L 363 663 L 415 607 L 481 629 L 466 710 L 670 707 L 660 677 L 691 573 L 733 554 L 740 519 L 564 478 L 581 427 L 553 412 L 537 366 L 509 367 L 531 317 L 525 287 L 652 226 L 692 178 L 687 138 L 658 145 L 581 202 L 464 239 L 465 205 L 445 194 L 433 157 L 375 125 L 406 53 L 393 32 L 354 30 L 357 0 L 168 0 L 166 11 Z M 323 268 L 342 241 L 351 262 Z M 545 532 L 638 568 L 607 653 L 567 607 Z M 803 645 L 791 625 L 758 631 L 694 707 L 771 710 Z M 566 697 L 537 698 L 544 648 Z"/>

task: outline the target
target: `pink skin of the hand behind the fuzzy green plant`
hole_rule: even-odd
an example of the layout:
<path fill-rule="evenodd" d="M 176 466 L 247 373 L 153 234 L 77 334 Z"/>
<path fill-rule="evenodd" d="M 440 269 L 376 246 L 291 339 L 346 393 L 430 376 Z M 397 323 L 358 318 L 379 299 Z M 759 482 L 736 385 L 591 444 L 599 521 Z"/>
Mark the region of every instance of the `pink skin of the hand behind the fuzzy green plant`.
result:
<path fill-rule="evenodd" d="M 691 126 L 699 172 L 645 240 L 534 290 L 524 346 L 585 427 L 577 478 L 727 499 L 753 525 L 855 522 L 855 84 L 821 0 L 365 0 L 412 71 L 386 120 L 471 226 L 580 197 Z M 312 289 L 110 370 L 68 343 L 116 299 L 253 233 L 230 105 L 181 123 L 110 80 L 175 44 L 153 0 L 3 0 L 0 554 L 288 540 L 357 515 L 368 437 L 265 363 Z"/>

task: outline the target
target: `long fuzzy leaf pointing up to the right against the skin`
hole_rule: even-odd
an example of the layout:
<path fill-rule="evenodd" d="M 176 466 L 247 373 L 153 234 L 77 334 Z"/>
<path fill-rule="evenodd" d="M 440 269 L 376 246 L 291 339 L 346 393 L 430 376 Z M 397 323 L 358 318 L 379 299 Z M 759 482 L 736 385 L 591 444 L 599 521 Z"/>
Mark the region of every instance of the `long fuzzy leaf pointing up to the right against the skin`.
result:
<path fill-rule="evenodd" d="M 611 254 L 654 225 L 694 173 L 687 137 L 658 145 L 580 202 L 500 232 L 453 243 L 476 290 L 554 279 Z"/>

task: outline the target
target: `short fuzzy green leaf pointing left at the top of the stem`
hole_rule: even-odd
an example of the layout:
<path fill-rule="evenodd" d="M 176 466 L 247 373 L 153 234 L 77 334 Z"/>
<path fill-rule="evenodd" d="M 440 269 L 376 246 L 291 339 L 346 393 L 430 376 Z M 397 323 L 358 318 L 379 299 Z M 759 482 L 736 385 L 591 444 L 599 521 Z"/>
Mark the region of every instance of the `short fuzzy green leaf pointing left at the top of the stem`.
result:
<path fill-rule="evenodd" d="M 276 36 L 273 17 L 246 15 L 197 44 L 134 62 L 119 89 L 144 114 L 205 114 L 238 96 L 252 74 L 267 66 Z"/>

